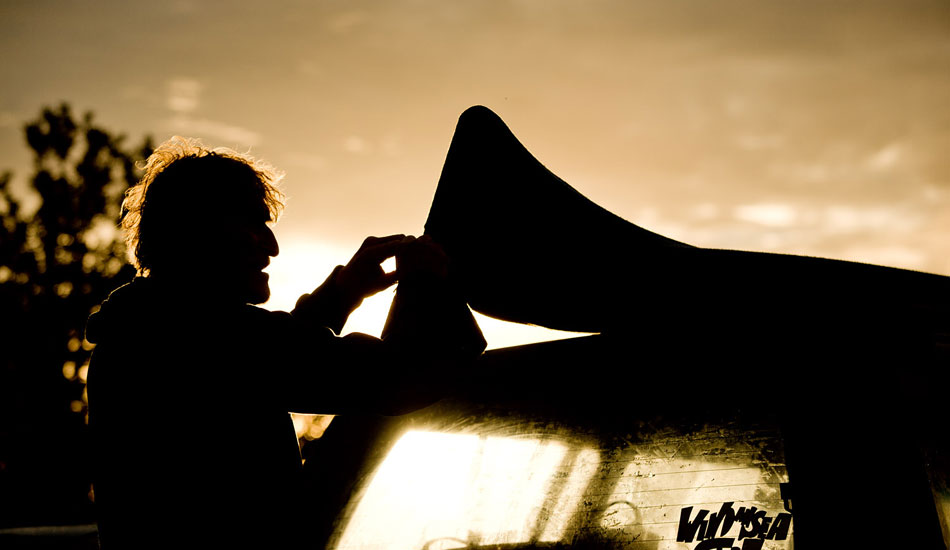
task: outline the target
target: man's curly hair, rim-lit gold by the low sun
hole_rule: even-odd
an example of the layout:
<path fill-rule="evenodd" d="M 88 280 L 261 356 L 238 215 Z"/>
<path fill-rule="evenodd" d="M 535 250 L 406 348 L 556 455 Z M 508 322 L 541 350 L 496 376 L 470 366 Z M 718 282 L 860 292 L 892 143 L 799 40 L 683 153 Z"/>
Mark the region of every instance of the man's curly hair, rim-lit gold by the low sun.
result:
<path fill-rule="evenodd" d="M 142 179 L 122 202 L 125 241 L 141 276 L 174 263 L 182 239 L 195 229 L 227 223 L 250 209 L 266 209 L 269 219 L 277 221 L 284 208 L 278 189 L 282 172 L 247 154 L 208 148 L 198 139 L 172 137 L 155 149 L 143 169 Z"/>

